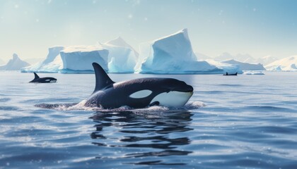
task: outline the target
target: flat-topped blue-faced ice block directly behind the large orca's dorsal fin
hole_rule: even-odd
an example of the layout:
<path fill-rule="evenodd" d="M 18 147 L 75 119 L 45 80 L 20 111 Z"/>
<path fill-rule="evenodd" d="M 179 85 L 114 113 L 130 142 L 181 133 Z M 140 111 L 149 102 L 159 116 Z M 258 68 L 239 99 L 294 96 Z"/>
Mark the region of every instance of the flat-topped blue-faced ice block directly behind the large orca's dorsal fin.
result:
<path fill-rule="evenodd" d="M 93 72 L 93 62 L 108 71 L 108 50 L 101 46 L 69 46 L 60 51 L 60 55 L 63 62 L 61 73 Z"/>

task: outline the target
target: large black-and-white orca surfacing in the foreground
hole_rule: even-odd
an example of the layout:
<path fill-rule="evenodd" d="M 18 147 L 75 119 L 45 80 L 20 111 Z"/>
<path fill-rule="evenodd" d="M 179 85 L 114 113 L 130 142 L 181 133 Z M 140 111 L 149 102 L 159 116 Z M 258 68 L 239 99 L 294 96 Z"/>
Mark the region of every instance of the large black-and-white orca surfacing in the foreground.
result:
<path fill-rule="evenodd" d="M 184 106 L 193 94 L 193 87 L 173 78 L 140 78 L 124 82 L 113 82 L 98 63 L 95 70 L 95 90 L 84 106 L 119 108 L 129 106 Z"/>

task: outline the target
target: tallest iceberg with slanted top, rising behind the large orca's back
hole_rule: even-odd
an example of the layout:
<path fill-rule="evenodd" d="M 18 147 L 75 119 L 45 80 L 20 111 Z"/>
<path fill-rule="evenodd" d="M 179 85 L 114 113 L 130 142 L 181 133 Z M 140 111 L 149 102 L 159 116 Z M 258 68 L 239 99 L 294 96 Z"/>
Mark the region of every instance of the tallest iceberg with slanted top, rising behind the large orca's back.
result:
<path fill-rule="evenodd" d="M 187 29 L 141 44 L 136 72 L 156 74 L 215 73 L 219 68 L 197 61 Z"/>

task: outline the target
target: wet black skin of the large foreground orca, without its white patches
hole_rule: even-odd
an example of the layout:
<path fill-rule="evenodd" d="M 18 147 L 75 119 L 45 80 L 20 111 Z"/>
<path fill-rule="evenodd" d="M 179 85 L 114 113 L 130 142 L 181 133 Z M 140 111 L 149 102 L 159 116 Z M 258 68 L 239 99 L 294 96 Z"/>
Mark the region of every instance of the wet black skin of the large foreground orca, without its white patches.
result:
<path fill-rule="evenodd" d="M 93 67 L 96 76 L 96 87 L 93 94 L 87 99 L 85 106 L 144 108 L 151 106 L 152 99 L 163 92 L 193 92 L 192 86 L 173 78 L 140 78 L 115 83 L 110 80 L 98 63 L 93 63 Z M 100 75 L 103 75 L 103 77 L 100 77 Z M 150 90 L 152 93 L 139 99 L 130 97 L 131 94 L 141 90 Z M 158 105 L 158 102 L 152 104 Z"/>

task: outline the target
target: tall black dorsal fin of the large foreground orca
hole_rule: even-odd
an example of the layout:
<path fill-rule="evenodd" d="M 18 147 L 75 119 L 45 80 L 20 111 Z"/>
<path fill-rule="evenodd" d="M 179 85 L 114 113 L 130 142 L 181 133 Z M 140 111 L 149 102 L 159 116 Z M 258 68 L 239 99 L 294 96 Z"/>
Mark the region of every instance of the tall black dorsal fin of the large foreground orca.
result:
<path fill-rule="evenodd" d="M 110 77 L 105 73 L 105 70 L 98 64 L 98 63 L 92 63 L 94 71 L 95 71 L 95 77 L 96 77 L 96 85 L 94 92 L 97 92 L 100 89 L 103 89 L 104 87 L 107 87 L 110 84 L 113 84 L 113 82 Z M 93 93 L 94 93 L 93 92 Z"/>

